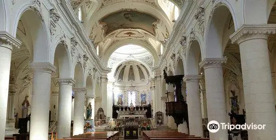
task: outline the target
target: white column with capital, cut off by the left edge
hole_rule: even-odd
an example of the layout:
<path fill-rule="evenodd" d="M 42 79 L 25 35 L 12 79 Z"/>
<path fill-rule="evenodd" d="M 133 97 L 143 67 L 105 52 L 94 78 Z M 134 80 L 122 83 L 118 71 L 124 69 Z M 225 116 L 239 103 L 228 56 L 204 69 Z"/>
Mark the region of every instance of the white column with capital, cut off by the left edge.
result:
<path fill-rule="evenodd" d="M 20 44 L 12 35 L 0 31 L 0 124 L 6 124 L 12 49 Z M 0 125 L 0 140 L 4 139 L 5 127 Z"/>

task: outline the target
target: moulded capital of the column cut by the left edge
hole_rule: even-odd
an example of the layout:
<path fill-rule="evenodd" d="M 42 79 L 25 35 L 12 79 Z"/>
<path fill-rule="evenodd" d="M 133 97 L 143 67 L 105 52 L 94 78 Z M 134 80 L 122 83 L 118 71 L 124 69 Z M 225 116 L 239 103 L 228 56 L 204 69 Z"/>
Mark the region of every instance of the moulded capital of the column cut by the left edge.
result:
<path fill-rule="evenodd" d="M 0 46 L 6 47 L 12 50 L 13 47 L 19 48 L 20 45 L 21 45 L 21 42 L 17 38 L 13 37 L 6 31 L 0 31 Z"/>

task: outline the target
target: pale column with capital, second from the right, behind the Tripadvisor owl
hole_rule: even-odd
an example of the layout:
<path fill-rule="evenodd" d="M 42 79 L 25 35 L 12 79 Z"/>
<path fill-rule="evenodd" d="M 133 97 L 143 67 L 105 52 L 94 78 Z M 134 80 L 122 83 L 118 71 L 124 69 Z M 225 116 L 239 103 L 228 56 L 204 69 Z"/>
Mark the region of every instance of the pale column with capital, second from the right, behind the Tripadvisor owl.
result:
<path fill-rule="evenodd" d="M 226 112 L 225 93 L 223 85 L 222 63 L 226 58 L 206 58 L 200 62 L 200 67 L 204 68 L 205 86 L 207 97 L 208 120 L 216 120 L 219 123 L 229 122 Z M 227 130 L 220 129 L 216 133 L 210 132 L 210 139 L 228 139 Z"/>

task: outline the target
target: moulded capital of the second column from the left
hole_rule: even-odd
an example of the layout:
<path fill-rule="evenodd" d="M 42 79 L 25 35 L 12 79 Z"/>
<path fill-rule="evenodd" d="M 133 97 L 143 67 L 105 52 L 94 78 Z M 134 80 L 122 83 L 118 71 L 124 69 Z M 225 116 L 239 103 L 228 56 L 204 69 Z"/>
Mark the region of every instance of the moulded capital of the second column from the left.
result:
<path fill-rule="evenodd" d="M 30 67 L 33 71 L 36 72 L 47 72 L 53 73 L 56 72 L 56 66 L 49 62 L 38 62 L 38 63 L 30 63 Z"/>

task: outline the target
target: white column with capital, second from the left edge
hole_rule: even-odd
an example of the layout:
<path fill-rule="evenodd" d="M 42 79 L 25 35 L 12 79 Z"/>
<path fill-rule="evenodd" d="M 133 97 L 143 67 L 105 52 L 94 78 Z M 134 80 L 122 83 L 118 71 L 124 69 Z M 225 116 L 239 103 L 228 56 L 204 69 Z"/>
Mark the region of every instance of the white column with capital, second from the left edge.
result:
<path fill-rule="evenodd" d="M 30 140 L 48 140 L 51 74 L 56 67 L 48 62 L 31 63 L 33 69 Z"/>

